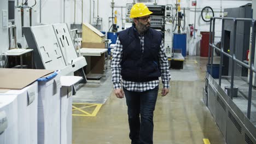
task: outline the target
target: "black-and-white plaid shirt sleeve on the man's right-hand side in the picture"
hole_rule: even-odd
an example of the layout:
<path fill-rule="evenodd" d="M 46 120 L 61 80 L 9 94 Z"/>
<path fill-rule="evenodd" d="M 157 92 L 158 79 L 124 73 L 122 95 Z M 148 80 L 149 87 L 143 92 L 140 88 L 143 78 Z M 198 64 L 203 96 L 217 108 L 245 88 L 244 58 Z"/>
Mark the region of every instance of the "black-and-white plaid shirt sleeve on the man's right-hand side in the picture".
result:
<path fill-rule="evenodd" d="M 170 87 L 169 81 L 171 79 L 171 75 L 169 72 L 168 59 L 167 59 L 167 56 L 165 55 L 164 41 L 161 42 L 160 51 L 158 55 L 159 55 L 160 70 L 162 74 L 162 77 L 161 77 L 162 84 L 164 85 L 164 88 L 169 88 Z"/>

